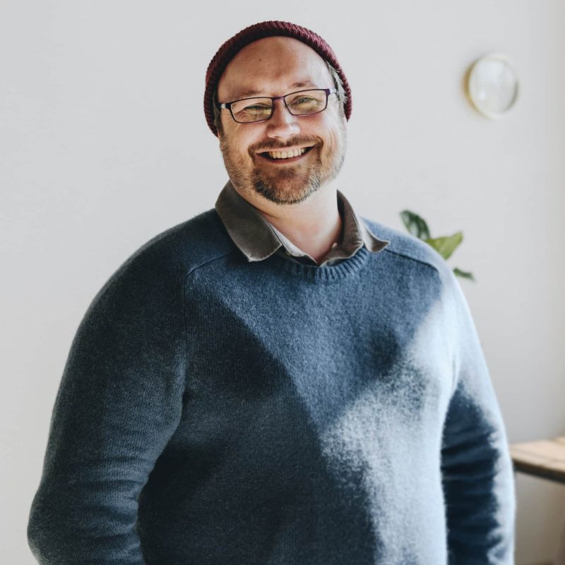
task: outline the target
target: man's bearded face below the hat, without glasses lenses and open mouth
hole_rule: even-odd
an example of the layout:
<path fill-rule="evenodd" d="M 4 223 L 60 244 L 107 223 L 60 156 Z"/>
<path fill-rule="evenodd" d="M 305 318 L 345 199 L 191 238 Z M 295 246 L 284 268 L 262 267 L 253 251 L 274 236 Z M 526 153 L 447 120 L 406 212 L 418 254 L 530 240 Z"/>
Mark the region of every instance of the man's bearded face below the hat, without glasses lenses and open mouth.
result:
<path fill-rule="evenodd" d="M 328 67 L 314 49 L 292 37 L 265 37 L 246 45 L 227 65 L 218 83 L 218 101 L 333 87 Z M 258 93 L 246 94 L 249 90 Z M 228 110 L 221 112 L 223 133 L 218 137 L 225 167 L 234 188 L 248 198 L 299 203 L 338 176 L 346 132 L 335 94 L 323 112 L 310 116 L 292 116 L 284 100 L 275 102 L 270 119 L 253 124 L 238 124 Z M 288 161 L 260 155 L 304 147 L 311 149 Z"/>

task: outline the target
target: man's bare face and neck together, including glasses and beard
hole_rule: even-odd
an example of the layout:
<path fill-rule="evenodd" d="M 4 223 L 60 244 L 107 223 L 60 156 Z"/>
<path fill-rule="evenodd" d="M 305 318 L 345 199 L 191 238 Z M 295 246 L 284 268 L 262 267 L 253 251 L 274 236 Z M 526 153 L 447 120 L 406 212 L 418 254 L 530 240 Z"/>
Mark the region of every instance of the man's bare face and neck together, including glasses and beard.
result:
<path fill-rule="evenodd" d="M 343 228 L 335 179 L 345 159 L 346 120 L 335 86 L 314 49 L 275 36 L 237 52 L 213 97 L 231 101 L 216 119 L 231 186 L 314 261 L 331 251 Z M 273 93 L 284 95 L 273 102 Z"/>

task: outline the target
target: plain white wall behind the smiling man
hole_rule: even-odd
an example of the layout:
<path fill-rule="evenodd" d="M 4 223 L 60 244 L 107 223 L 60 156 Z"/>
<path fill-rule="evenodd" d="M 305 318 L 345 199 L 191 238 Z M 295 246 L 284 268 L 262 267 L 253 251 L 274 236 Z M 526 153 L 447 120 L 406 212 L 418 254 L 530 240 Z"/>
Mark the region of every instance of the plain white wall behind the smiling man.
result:
<path fill-rule="evenodd" d="M 364 4 L 364 3 L 363 3 Z M 319 13 L 322 10 L 322 13 Z M 202 110 L 220 44 L 257 21 L 319 32 L 352 86 L 341 190 L 358 212 L 463 230 L 463 281 L 511 441 L 565 434 L 565 3 L 408 0 L 0 3 L 1 561 L 25 528 L 79 321 L 147 239 L 212 208 L 227 179 Z M 501 51 L 517 106 L 489 121 L 463 76 Z M 518 475 L 517 564 L 551 559 L 565 487 Z"/>

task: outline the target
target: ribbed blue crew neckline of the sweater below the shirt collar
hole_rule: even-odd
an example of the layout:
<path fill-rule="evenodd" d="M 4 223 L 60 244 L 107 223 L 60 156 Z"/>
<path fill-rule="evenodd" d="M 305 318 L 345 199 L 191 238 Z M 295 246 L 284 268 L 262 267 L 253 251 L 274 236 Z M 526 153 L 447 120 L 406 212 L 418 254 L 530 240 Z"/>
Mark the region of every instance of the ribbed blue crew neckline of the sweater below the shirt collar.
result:
<path fill-rule="evenodd" d="M 340 280 L 344 280 L 358 273 L 359 270 L 365 266 L 367 261 L 369 261 L 370 255 L 371 252 L 366 247 L 361 247 L 354 256 L 344 259 L 337 265 L 321 267 L 297 263 L 297 261 L 292 261 L 277 253 L 263 261 L 272 263 L 273 266 L 282 269 L 285 273 L 304 278 L 311 283 L 332 284 L 339 283 Z"/>

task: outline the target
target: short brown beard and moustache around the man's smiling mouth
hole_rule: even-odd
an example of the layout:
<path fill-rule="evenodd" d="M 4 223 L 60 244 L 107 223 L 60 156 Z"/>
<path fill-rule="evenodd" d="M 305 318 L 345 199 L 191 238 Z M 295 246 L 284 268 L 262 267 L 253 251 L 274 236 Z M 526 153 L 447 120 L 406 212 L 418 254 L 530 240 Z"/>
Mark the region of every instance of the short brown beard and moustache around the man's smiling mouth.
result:
<path fill-rule="evenodd" d="M 292 165 L 270 165 L 256 152 L 284 149 L 296 145 L 314 145 L 301 161 Z M 252 191 L 276 204 L 297 204 L 307 200 L 321 186 L 335 179 L 345 160 L 346 131 L 340 121 L 338 134 L 328 145 L 321 138 L 296 136 L 284 145 L 269 140 L 249 147 L 242 155 L 232 141 L 222 134 L 220 150 L 227 174 L 239 191 Z"/>

